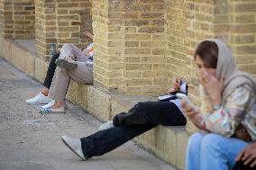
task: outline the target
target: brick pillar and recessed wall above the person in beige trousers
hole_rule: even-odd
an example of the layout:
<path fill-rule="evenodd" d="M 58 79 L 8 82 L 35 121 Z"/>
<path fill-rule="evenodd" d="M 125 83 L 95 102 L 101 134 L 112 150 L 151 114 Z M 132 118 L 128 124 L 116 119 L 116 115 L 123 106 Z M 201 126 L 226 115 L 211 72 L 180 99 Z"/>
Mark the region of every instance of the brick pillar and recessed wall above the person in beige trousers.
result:
<path fill-rule="evenodd" d="M 49 60 L 50 43 L 73 43 L 79 48 L 90 42 L 82 32 L 92 31 L 88 0 L 35 0 L 37 57 Z"/>

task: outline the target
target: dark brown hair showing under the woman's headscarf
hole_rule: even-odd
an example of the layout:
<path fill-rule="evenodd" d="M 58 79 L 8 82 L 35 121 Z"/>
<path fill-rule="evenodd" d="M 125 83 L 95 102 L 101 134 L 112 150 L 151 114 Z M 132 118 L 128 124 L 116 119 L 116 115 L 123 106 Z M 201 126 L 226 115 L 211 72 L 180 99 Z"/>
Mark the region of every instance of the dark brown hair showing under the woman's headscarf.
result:
<path fill-rule="evenodd" d="M 195 59 L 201 58 L 206 67 L 216 68 L 218 61 L 218 46 L 215 42 L 204 40 L 197 46 Z"/>

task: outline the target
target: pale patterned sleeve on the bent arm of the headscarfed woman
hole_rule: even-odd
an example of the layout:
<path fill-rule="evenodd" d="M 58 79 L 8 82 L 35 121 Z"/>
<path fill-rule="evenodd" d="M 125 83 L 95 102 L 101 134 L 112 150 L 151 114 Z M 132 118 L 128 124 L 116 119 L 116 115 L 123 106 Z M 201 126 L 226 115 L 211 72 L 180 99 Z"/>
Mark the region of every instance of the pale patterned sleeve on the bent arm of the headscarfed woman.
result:
<path fill-rule="evenodd" d="M 206 130 L 231 137 L 236 127 L 243 120 L 251 103 L 251 87 L 242 85 L 231 92 L 224 105 L 204 116 L 202 124 Z"/>

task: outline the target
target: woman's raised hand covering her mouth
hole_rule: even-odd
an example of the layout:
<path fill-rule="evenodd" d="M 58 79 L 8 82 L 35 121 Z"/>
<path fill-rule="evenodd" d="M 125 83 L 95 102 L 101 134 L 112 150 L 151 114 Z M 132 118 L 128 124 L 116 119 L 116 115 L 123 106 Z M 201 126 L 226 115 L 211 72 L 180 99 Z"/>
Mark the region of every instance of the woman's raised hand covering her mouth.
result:
<path fill-rule="evenodd" d="M 200 71 L 201 74 L 198 76 L 199 82 L 204 86 L 206 92 L 210 95 L 213 104 L 221 103 L 221 92 L 224 86 L 224 78 L 218 81 L 215 76 L 206 72 L 205 69 L 201 69 Z"/>

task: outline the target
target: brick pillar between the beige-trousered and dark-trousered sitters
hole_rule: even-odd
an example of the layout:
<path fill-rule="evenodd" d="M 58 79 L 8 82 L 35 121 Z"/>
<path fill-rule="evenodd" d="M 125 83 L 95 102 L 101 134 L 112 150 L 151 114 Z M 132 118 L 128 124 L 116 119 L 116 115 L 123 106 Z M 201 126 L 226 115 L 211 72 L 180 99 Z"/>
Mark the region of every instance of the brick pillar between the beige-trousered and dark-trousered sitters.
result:
<path fill-rule="evenodd" d="M 94 0 L 94 84 L 108 92 L 123 91 L 123 1 Z"/>

